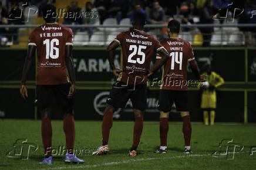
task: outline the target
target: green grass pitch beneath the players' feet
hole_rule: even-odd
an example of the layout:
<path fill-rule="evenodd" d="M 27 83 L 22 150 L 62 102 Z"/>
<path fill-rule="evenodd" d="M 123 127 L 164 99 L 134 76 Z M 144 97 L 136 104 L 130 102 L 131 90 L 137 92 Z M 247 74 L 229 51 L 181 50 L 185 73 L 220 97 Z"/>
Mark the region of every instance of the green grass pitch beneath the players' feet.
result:
<path fill-rule="evenodd" d="M 76 121 L 75 124 L 75 148 L 90 149 L 89 152 L 92 153 L 101 145 L 101 122 Z M 62 125 L 62 121 L 52 121 L 52 148 L 65 145 Z M 0 120 L 0 169 L 255 169 L 256 152 L 251 156 L 250 148 L 256 146 L 256 124 L 205 126 L 192 123 L 192 128 L 193 154 L 190 156 L 182 152 L 182 123 L 169 123 L 168 152 L 155 154 L 154 150 L 160 143 L 159 123 L 144 122 L 137 157 L 128 157 L 127 153 L 133 141 L 133 122 L 114 121 L 108 155 L 92 156 L 84 153 L 78 156 L 85 160 L 85 164 L 82 165 L 65 165 L 64 155 L 57 155 L 53 157 L 53 165 L 38 165 L 43 159 L 41 121 Z M 13 150 L 13 144 L 18 138 L 26 138 L 28 142 L 39 147 L 36 152 L 29 155 L 28 160 L 6 157 L 6 153 Z M 224 138 L 233 138 L 234 142 L 244 145 L 243 151 L 234 155 L 234 160 L 228 160 L 225 156 L 211 156 L 213 151 L 218 150 L 218 144 Z"/>

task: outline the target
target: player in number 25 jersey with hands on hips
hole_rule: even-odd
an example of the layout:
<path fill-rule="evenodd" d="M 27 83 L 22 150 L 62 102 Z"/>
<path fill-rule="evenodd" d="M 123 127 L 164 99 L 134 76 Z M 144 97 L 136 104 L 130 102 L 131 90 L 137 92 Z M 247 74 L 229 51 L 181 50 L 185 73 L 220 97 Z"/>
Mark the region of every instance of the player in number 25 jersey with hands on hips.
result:
<path fill-rule="evenodd" d="M 93 152 L 93 155 L 109 151 L 108 141 L 110 128 L 113 124 L 113 111 L 116 108 L 124 108 L 130 98 L 135 110 L 135 124 L 133 145 L 129 155 L 136 156 L 136 149 L 139 145 L 143 129 L 143 113 L 147 104 L 147 79 L 169 58 L 169 53 L 159 41 L 142 30 L 144 24 L 144 15 L 136 13 L 133 17 L 133 29 L 117 35 L 116 39 L 107 47 L 109 63 L 114 76 L 117 77 L 117 81 L 114 83 L 107 98 L 107 107 L 102 123 L 102 146 Z M 116 69 L 113 60 L 114 50 L 119 45 L 122 47 L 120 70 Z M 159 53 L 162 59 L 149 70 L 151 57 L 154 55 L 154 52 Z"/>

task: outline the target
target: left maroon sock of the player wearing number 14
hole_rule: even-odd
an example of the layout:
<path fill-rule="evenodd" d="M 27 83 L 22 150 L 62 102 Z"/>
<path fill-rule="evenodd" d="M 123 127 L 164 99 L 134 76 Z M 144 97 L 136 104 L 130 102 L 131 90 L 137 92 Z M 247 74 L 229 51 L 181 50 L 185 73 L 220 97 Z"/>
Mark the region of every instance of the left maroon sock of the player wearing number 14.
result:
<path fill-rule="evenodd" d="M 167 146 L 168 118 L 160 118 L 160 146 Z"/>

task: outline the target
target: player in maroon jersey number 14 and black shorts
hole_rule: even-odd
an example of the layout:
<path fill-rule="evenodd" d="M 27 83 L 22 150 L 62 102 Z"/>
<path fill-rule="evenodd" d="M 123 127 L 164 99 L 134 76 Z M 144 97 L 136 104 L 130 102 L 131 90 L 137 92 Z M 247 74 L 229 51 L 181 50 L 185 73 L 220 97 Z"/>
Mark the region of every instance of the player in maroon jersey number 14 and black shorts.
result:
<path fill-rule="evenodd" d="M 180 111 L 183 120 L 183 135 L 185 140 L 186 154 L 190 153 L 191 124 L 188 108 L 188 81 L 187 63 L 197 80 L 201 79 L 198 72 L 197 63 L 190 43 L 178 38 L 180 32 L 180 22 L 172 20 L 168 24 L 169 39 L 163 40 L 161 44 L 170 53 L 170 58 L 163 65 L 162 84 L 159 96 L 160 111 L 160 141 L 161 145 L 156 152 L 165 153 L 167 151 L 167 132 L 169 130 L 168 118 L 173 102 L 176 104 L 177 111 Z M 161 56 L 157 55 L 157 60 Z M 158 62 L 158 61 L 157 61 Z M 157 63 L 156 62 L 156 63 Z"/>

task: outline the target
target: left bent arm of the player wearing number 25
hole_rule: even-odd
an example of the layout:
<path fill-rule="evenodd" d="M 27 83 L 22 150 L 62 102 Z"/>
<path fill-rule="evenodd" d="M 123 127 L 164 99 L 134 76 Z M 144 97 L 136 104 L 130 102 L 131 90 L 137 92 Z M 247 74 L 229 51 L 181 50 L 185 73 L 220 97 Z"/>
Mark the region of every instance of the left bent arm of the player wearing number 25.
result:
<path fill-rule="evenodd" d="M 114 66 L 114 51 L 117 47 L 119 47 L 119 42 L 116 40 L 113 40 L 110 45 L 107 47 L 107 53 L 108 53 L 108 59 L 109 59 L 109 65 L 113 71 L 114 76 L 117 78 L 119 76 L 119 73 L 122 72 L 122 70 L 116 69 Z"/>

